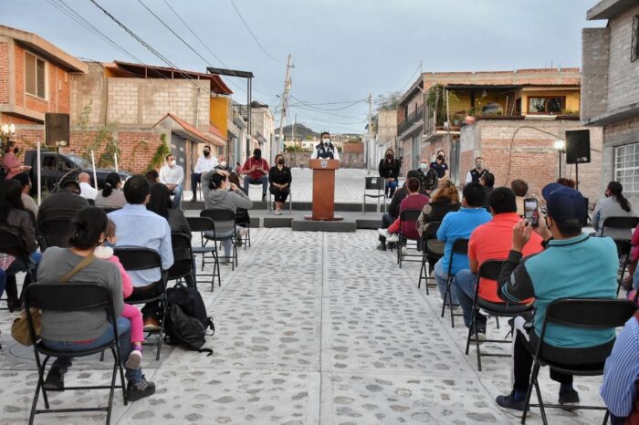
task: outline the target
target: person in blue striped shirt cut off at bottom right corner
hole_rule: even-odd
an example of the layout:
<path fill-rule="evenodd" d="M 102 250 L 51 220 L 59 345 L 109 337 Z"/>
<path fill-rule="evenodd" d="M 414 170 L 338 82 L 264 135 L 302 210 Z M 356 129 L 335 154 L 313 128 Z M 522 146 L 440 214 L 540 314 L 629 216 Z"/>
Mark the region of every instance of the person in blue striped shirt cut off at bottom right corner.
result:
<path fill-rule="evenodd" d="M 633 412 L 639 381 L 639 313 L 630 317 L 614 341 L 603 368 L 599 393 L 610 411 L 612 425 L 623 425 Z M 634 412 L 636 414 L 636 411 Z"/>

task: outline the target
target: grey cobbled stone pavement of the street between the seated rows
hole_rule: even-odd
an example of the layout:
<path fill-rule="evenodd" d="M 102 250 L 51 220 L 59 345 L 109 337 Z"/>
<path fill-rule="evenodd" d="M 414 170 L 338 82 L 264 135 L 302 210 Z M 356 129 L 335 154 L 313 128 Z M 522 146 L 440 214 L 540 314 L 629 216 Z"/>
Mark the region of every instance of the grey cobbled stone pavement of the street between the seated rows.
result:
<path fill-rule="evenodd" d="M 239 268 L 222 266 L 223 285 L 200 284 L 217 332 L 214 354 L 165 347 L 144 373 L 157 392 L 128 406 L 114 400 L 113 423 L 397 424 L 517 423 L 499 410 L 509 358 L 464 354 L 466 330 L 439 316 L 435 292 L 416 280 L 419 264 L 399 269 L 374 249 L 374 231 L 293 233 L 254 229 Z M 0 423 L 24 423 L 37 374 L 32 352 L 9 337 L 11 315 L 0 311 Z M 489 322 L 489 337 L 504 337 Z M 484 347 L 487 349 L 488 347 Z M 509 346 L 490 347 L 508 352 Z M 109 377 L 110 358 L 78 359 L 67 384 Z M 542 369 L 543 395 L 558 384 Z M 576 378 L 584 402 L 600 403 L 601 378 Z M 53 394 L 56 407 L 105 402 L 100 391 Z M 39 415 L 37 423 L 100 423 L 101 414 Z M 550 413 L 551 423 L 598 423 L 602 413 Z M 540 423 L 539 410 L 529 423 Z"/>

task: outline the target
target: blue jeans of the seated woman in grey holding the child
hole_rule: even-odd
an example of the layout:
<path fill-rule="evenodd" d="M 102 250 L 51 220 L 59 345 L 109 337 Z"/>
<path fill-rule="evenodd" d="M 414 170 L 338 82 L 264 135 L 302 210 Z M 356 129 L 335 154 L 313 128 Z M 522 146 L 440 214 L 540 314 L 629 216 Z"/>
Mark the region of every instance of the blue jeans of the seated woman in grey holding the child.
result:
<path fill-rule="evenodd" d="M 127 362 L 129 354 L 131 353 L 131 322 L 125 317 L 118 317 L 118 337 L 120 340 L 120 359 L 122 365 Z M 63 351 L 69 354 L 73 354 L 75 351 L 84 351 L 94 347 L 101 347 L 113 340 L 113 325 L 109 324 L 107 330 L 89 342 L 67 342 L 67 341 L 50 341 L 43 339 L 43 343 L 46 347 L 56 351 Z M 68 368 L 71 367 L 71 359 L 73 357 L 56 358 L 51 365 L 51 368 L 58 368 L 60 372 L 65 373 Z M 140 369 L 126 369 L 126 378 L 131 382 L 140 382 L 142 378 L 142 370 Z"/>

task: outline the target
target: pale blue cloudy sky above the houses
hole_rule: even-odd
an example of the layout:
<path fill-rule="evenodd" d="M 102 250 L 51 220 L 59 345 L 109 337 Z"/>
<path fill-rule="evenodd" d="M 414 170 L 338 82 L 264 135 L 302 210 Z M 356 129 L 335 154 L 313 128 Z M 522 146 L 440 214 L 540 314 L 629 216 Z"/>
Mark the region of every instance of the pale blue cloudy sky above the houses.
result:
<path fill-rule="evenodd" d="M 363 132 L 369 94 L 405 90 L 420 61 L 424 72 L 580 67 L 581 28 L 605 25 L 585 19 L 598 0 L 95 1 L 176 67 L 252 71 L 253 97 L 273 107 L 276 126 L 292 55 L 285 125 L 297 115 L 298 123 L 334 133 Z M 167 66 L 89 0 L 1 3 L 1 24 L 37 33 L 75 57 Z M 82 16 L 131 56 L 60 9 Z M 233 98 L 246 103 L 246 80 L 229 79 Z"/>

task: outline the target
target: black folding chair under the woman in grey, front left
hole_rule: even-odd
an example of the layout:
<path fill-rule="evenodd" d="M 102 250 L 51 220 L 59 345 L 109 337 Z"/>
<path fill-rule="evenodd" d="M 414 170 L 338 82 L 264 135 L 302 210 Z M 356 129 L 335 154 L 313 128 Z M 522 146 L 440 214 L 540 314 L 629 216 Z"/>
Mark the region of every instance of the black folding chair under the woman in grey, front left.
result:
<path fill-rule="evenodd" d="M 50 284 L 50 285 L 30 285 L 25 293 L 26 317 L 28 320 L 29 332 L 34 341 L 34 355 L 37 365 L 37 385 L 36 394 L 34 395 L 33 404 L 31 405 L 31 413 L 29 415 L 29 424 L 32 424 L 34 417 L 40 413 L 56 413 L 56 412 L 84 412 L 84 411 L 106 411 L 107 424 L 110 423 L 111 408 L 113 406 L 113 394 L 117 387 L 122 389 L 124 404 L 127 404 L 126 389 L 124 386 L 124 372 L 122 371 L 122 363 L 120 360 L 120 342 L 118 336 L 117 316 L 113 308 L 109 288 L 98 284 Z M 58 314 L 71 312 L 90 312 L 105 311 L 107 320 L 113 324 L 113 339 L 107 344 L 85 349 L 82 351 L 56 351 L 44 345 L 42 340 L 38 341 L 34 328 L 34 318 L 31 316 L 31 308 L 45 310 L 47 312 L 57 312 Z M 82 386 L 82 387 L 65 387 L 62 389 L 45 389 L 45 369 L 49 358 L 64 358 L 71 355 L 74 358 L 87 357 L 110 349 L 113 355 L 113 370 L 111 373 L 110 385 Z M 44 360 L 40 355 L 45 356 Z M 116 386 L 116 378 L 120 370 L 120 385 Z M 48 391 L 66 391 L 66 390 L 86 390 L 86 389 L 109 389 L 109 404 L 105 407 L 93 408 L 73 408 L 73 409 L 50 409 L 47 397 Z M 45 400 L 45 409 L 37 409 L 37 399 L 42 390 L 42 398 Z"/>

